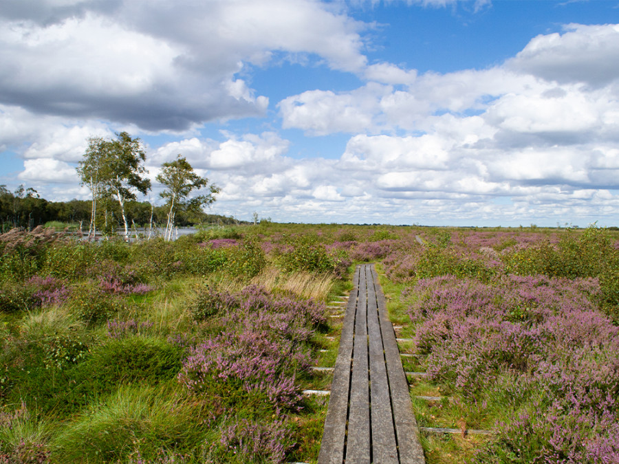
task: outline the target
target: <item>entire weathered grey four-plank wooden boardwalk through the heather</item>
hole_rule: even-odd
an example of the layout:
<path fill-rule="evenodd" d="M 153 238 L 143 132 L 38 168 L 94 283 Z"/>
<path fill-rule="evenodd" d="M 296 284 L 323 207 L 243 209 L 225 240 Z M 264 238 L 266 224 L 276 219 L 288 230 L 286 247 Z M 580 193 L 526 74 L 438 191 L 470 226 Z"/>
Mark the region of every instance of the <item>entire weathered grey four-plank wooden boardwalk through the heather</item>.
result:
<path fill-rule="evenodd" d="M 373 265 L 356 269 L 318 464 L 423 464 L 393 326 Z"/>

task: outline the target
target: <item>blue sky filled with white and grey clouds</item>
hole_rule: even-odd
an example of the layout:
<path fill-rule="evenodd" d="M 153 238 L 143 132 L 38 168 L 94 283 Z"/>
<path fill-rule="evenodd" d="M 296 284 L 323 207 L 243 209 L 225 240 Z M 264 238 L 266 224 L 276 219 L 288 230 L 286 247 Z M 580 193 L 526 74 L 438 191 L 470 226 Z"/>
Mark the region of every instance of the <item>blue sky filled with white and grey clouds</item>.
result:
<path fill-rule="evenodd" d="M 616 23 L 619 0 L 2 0 L 0 184 L 88 199 L 87 138 L 128 131 L 238 219 L 619 225 Z"/>

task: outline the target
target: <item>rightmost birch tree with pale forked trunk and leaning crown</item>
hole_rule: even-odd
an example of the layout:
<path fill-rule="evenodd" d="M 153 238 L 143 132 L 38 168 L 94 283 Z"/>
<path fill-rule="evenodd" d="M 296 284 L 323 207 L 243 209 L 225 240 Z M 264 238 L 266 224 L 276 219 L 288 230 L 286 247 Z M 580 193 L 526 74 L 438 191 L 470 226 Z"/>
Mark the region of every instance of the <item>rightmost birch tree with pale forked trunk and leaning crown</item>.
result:
<path fill-rule="evenodd" d="M 219 192 L 219 188 L 213 184 L 208 185 L 206 177 L 197 175 L 191 164 L 181 155 L 177 155 L 174 161 L 162 164 L 161 173 L 155 179 L 160 184 L 166 186 L 166 189 L 160 193 L 160 196 L 166 200 L 166 206 L 169 208 L 164 234 L 166 241 L 172 239 L 174 220 L 178 211 L 199 212 L 199 210 L 202 210 L 202 207 L 213 203 L 215 201 L 215 194 Z M 189 197 L 194 190 L 206 187 L 208 187 L 208 194 Z"/>

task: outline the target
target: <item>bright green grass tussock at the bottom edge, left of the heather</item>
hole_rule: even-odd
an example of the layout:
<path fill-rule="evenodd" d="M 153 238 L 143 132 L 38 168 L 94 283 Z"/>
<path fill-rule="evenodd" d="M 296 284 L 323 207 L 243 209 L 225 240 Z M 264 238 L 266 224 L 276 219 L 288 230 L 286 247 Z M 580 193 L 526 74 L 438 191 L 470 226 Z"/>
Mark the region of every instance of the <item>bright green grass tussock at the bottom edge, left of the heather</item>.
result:
<path fill-rule="evenodd" d="M 182 455 L 175 453 L 178 449 L 199 456 L 206 431 L 208 418 L 195 401 L 187 401 L 166 388 L 125 385 L 93 401 L 56 433 L 51 443 L 52 459 L 183 462 L 165 458 Z"/>

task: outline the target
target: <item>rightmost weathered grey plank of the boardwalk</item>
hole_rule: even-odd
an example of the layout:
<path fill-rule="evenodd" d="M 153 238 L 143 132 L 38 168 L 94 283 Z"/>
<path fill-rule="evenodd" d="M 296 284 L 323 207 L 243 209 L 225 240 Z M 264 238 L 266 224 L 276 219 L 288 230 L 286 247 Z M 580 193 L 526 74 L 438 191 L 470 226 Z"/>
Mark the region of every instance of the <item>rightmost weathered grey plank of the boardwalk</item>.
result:
<path fill-rule="evenodd" d="M 376 269 L 372 267 L 374 282 L 376 283 L 376 299 L 378 302 L 378 315 L 382 332 L 382 344 L 384 357 L 387 362 L 387 375 L 391 390 L 391 408 L 395 423 L 395 434 L 398 440 L 398 453 L 401 464 L 424 464 L 424 450 L 419 441 L 419 429 L 413 415 L 409 387 L 402 368 L 400 351 L 395 342 L 395 332 L 387 315 L 387 305 L 384 294 L 378 283 Z"/>

